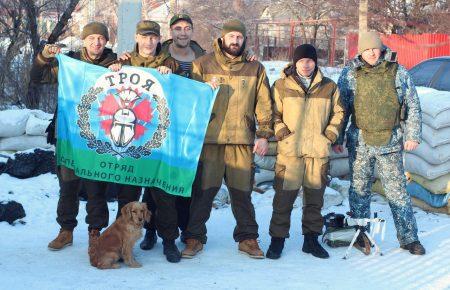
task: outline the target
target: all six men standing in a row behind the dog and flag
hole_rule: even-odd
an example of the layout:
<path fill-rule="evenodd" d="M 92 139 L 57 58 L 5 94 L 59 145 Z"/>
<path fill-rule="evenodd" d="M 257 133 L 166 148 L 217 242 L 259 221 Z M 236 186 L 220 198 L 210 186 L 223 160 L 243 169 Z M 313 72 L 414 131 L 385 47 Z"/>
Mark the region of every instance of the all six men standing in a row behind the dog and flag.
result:
<path fill-rule="evenodd" d="M 292 63 L 271 89 L 264 66 L 248 55 L 246 27 L 241 21 L 223 24 L 221 36 L 214 41 L 209 54 L 191 39 L 194 26 L 189 15 L 175 15 L 169 25 L 171 39 L 161 43 L 159 24 L 140 21 L 134 50 L 118 57 L 105 48 L 109 39 L 107 27 L 93 22 L 83 28 L 83 48 L 68 53 L 70 57 L 114 71 L 122 65 L 156 68 L 162 74 L 176 73 L 219 89 L 191 198 L 171 195 L 156 187 L 143 190 L 138 186 L 116 185 L 118 215 L 125 204 L 139 200 L 144 191 L 142 199 L 153 218 L 145 225 L 146 234 L 140 244 L 143 250 L 153 248 L 158 234 L 169 262 L 193 258 L 202 251 L 213 199 L 225 180 L 236 220 L 233 237 L 240 252 L 252 258 L 281 256 L 285 239 L 289 237 L 293 204 L 302 187 L 302 250 L 327 258 L 329 255 L 318 236 L 323 228 L 321 209 L 329 155 L 331 150 L 342 152 L 344 132 L 351 117 L 346 145 L 350 153 L 353 217 L 370 216 L 376 163 L 400 246 L 412 254 L 425 253 L 418 240 L 402 167 L 403 148 L 414 150 L 420 142 L 420 105 L 410 76 L 396 62 L 395 54 L 382 45 L 377 33 L 360 36 L 359 55 L 344 68 L 338 84 L 321 72 L 315 47 L 303 44 L 295 49 Z M 56 45 L 44 47 L 32 67 L 33 81 L 58 81 L 55 55 L 59 52 Z M 54 123 L 49 126 L 49 141 L 57 142 L 53 138 L 55 127 Z M 269 231 L 271 243 L 264 254 L 257 241 L 258 224 L 251 193 L 254 154 L 265 155 L 270 138 L 278 141 L 278 153 Z M 64 166 L 58 166 L 57 176 L 60 196 L 56 220 L 61 229 L 48 248 L 60 250 L 72 244 L 82 186 L 87 193 L 86 223 L 91 246 L 108 225 L 105 192 L 110 184 L 79 178 Z M 181 241 L 185 243 L 182 252 L 175 243 L 180 230 Z M 367 243 L 361 235 L 356 244 L 364 248 Z"/>

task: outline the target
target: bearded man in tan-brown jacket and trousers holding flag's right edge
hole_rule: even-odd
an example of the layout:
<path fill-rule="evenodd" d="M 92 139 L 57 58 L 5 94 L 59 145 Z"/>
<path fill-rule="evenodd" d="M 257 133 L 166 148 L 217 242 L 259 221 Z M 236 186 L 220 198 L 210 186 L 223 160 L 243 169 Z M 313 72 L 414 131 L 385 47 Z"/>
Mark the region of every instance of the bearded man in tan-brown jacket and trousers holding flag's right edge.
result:
<path fill-rule="evenodd" d="M 239 251 L 264 258 L 256 241 L 252 166 L 254 153 L 266 154 L 267 139 L 273 135 L 272 101 L 264 66 L 258 61 L 248 62 L 243 54 L 245 37 L 242 22 L 228 21 L 221 38 L 214 41 L 214 51 L 193 63 L 193 79 L 208 82 L 219 92 L 199 161 L 201 188 L 192 193 L 184 258 L 195 256 L 206 243 L 206 222 L 223 178 L 237 222 L 233 237 Z"/>

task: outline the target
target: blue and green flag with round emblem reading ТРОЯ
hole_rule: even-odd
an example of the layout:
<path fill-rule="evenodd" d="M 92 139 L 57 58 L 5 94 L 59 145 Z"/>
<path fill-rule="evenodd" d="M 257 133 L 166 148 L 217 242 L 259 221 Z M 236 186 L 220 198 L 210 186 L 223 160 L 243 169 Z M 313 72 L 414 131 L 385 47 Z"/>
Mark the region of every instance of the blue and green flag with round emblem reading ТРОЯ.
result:
<path fill-rule="evenodd" d="M 217 92 L 155 69 L 57 56 L 58 165 L 82 178 L 190 196 Z"/>

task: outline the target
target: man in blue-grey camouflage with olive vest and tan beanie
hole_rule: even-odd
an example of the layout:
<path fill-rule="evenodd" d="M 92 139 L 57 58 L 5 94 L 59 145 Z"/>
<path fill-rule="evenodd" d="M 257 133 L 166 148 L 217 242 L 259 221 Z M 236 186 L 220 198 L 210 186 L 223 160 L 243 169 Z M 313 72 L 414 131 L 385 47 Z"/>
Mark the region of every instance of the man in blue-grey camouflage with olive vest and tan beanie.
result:
<path fill-rule="evenodd" d="M 411 254 L 423 255 L 425 248 L 417 236 L 403 168 L 403 149 L 415 150 L 421 141 L 419 98 L 408 71 L 397 63 L 395 53 L 383 48 L 378 33 L 362 33 L 358 51 L 359 55 L 343 69 L 338 81 L 346 117 L 339 145 L 334 148 L 343 151 L 341 144 L 350 119 L 347 148 L 352 217 L 370 217 L 376 163 L 400 247 Z M 355 245 L 366 254 L 370 252 L 364 235 L 358 237 Z"/>

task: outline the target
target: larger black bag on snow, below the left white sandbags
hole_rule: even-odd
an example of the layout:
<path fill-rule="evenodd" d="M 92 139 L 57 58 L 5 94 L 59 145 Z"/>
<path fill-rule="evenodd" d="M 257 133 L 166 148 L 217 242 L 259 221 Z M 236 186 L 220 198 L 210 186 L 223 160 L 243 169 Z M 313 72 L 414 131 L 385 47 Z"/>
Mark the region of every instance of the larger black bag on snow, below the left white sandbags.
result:
<path fill-rule="evenodd" d="M 32 152 L 14 154 L 8 159 L 5 173 L 17 178 L 29 178 L 45 173 L 55 173 L 56 161 L 53 151 L 35 149 Z"/>

